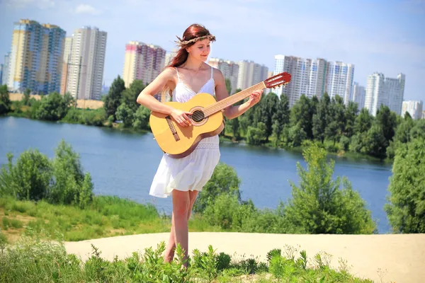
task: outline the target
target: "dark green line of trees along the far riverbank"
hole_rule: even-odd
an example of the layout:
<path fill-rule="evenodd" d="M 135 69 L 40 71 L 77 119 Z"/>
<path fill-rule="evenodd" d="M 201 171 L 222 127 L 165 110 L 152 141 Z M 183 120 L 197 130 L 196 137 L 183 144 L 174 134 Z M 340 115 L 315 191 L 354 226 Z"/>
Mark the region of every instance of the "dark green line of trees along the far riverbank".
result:
<path fill-rule="evenodd" d="M 227 87 L 231 93 L 229 83 Z M 59 93 L 35 100 L 27 91 L 21 101 L 11 102 L 6 86 L 1 86 L 0 115 L 150 131 L 150 111 L 136 103 L 144 88 L 140 80 L 125 88 L 118 76 L 102 98 L 103 108 L 90 110 L 75 108 L 71 96 Z M 356 103 L 345 105 L 340 96 L 330 98 L 327 93 L 322 98 L 302 95 L 291 108 L 287 96 L 268 93 L 244 115 L 225 119 L 225 130 L 220 134 L 221 139 L 228 141 L 299 151 L 319 141 L 319 146 L 328 153 L 388 161 L 393 160 L 401 144 L 416 137 L 425 137 L 423 119 L 412 120 L 409 113 L 400 117 L 383 105 L 376 115 L 370 115 Z"/>

